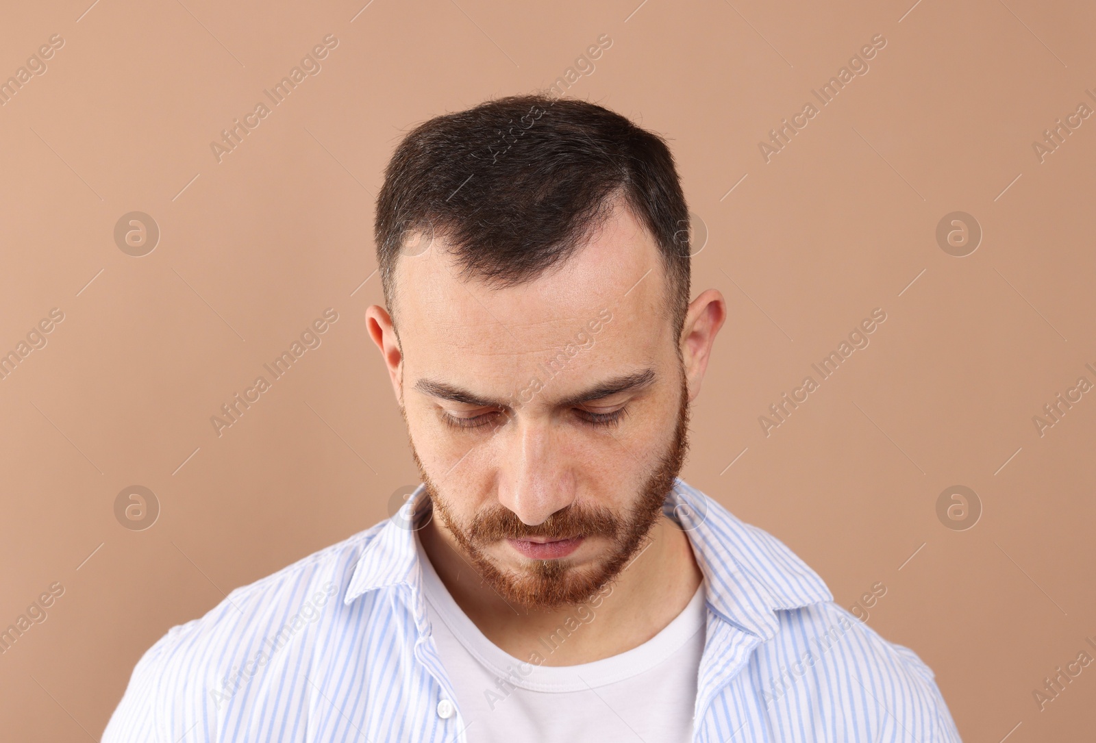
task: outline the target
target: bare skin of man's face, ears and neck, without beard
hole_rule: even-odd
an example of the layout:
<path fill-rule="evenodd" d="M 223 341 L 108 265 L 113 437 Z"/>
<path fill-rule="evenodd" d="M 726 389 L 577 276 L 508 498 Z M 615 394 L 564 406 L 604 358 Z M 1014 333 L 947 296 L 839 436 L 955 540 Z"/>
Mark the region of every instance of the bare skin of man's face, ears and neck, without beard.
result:
<path fill-rule="evenodd" d="M 422 467 L 458 523 L 501 504 L 528 525 L 572 503 L 624 514 L 667 450 L 674 433 L 684 370 L 689 401 L 700 391 L 712 342 L 727 315 L 722 295 L 708 289 L 688 306 L 680 338 L 665 308 L 665 284 L 653 238 L 631 213 L 610 217 L 563 264 L 537 278 L 494 288 L 459 275 L 443 239 L 404 255 L 395 274 L 399 336 L 380 306 L 366 311 L 369 335 L 403 408 Z M 593 345 L 570 358 L 527 401 L 541 366 L 586 322 L 608 308 L 612 320 Z M 678 351 L 681 350 L 681 361 Z M 600 384 L 651 369 L 646 386 L 609 397 L 583 395 Z M 472 404 L 424 390 L 442 382 L 498 404 Z M 524 396 L 528 398 L 529 396 Z M 575 399 L 579 402 L 575 402 Z M 591 416 L 624 410 L 616 424 Z M 473 423 L 454 427 L 446 415 Z M 574 608 L 527 609 L 507 604 L 461 556 L 453 534 L 432 519 L 419 533 L 423 549 L 457 605 L 495 645 L 526 660 Z M 578 565 L 604 560 L 610 542 L 583 539 L 568 556 Z M 488 556 L 502 569 L 528 564 L 510 542 Z M 630 650 L 681 614 L 703 580 L 686 535 L 665 517 L 646 548 L 612 584 L 582 625 L 545 659 L 573 665 Z"/>

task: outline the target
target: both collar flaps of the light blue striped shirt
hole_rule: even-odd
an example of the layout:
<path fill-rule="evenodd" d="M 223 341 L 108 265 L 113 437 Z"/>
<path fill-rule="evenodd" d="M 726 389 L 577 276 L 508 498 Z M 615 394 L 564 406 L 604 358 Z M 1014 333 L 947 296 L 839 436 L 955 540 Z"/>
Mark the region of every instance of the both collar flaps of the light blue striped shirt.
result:
<path fill-rule="evenodd" d="M 398 585 L 421 593 L 411 514 L 424 498 L 420 485 L 399 513 L 377 527 L 358 558 L 344 603 Z M 780 540 L 743 524 L 683 480 L 674 483 L 663 512 L 688 536 L 707 583 L 708 607 L 723 621 L 768 640 L 779 629 L 776 611 L 833 601 L 822 579 Z"/>

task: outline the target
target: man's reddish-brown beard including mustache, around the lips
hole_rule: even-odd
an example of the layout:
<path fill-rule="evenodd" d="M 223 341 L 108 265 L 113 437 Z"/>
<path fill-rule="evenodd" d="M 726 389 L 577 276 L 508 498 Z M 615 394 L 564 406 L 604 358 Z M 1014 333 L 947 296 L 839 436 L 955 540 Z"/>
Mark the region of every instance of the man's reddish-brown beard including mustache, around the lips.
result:
<path fill-rule="evenodd" d="M 623 513 L 617 513 L 601 505 L 576 503 L 560 508 L 536 526 L 529 526 L 513 511 L 498 503 L 477 513 L 470 522 L 461 523 L 426 475 L 414 442 L 411 442 L 411 455 L 433 513 L 453 535 L 459 551 L 503 601 L 526 609 L 583 604 L 616 579 L 646 546 L 651 529 L 662 515 L 666 495 L 685 462 L 687 450 L 688 387 L 683 370 L 673 439 L 631 504 Z M 560 558 L 528 560 L 517 570 L 510 570 L 501 568 L 486 551 L 486 548 L 505 539 L 567 539 L 578 536 L 607 538 L 610 544 L 608 555 L 585 568 Z"/>

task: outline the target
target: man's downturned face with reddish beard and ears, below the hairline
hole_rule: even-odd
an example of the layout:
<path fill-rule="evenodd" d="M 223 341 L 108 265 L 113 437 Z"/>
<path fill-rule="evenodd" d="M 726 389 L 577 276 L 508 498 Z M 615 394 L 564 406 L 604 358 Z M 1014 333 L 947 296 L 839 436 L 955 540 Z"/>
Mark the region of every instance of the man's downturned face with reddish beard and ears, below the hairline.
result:
<path fill-rule="evenodd" d="M 723 311 L 690 305 L 680 338 L 665 286 L 618 208 L 515 287 L 466 279 L 435 239 L 397 265 L 398 338 L 369 310 L 436 523 L 510 603 L 583 602 L 660 518 Z"/>

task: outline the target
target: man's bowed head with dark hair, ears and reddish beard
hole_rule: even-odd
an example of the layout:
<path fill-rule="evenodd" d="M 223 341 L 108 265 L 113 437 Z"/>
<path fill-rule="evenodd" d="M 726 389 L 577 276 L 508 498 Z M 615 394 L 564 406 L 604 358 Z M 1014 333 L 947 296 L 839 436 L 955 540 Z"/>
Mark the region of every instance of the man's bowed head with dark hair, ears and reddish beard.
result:
<path fill-rule="evenodd" d="M 688 301 L 687 219 L 665 144 L 589 103 L 487 103 L 392 157 L 369 332 L 441 527 L 512 603 L 583 601 L 659 518 L 726 312 Z"/>

